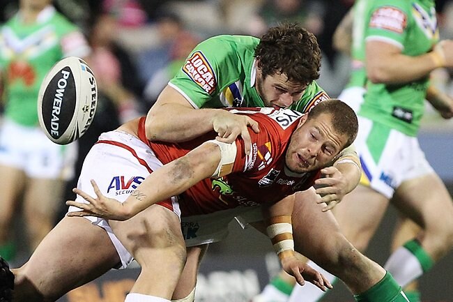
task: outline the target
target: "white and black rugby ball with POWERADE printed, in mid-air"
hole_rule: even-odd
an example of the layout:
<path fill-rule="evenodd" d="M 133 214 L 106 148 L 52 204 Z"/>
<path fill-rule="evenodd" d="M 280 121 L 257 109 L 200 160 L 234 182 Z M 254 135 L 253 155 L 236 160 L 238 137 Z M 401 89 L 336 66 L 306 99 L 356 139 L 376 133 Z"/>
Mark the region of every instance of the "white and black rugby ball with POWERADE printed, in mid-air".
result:
<path fill-rule="evenodd" d="M 38 94 L 38 119 L 56 144 L 84 135 L 98 104 L 98 86 L 88 64 L 75 56 L 58 61 L 47 73 Z"/>

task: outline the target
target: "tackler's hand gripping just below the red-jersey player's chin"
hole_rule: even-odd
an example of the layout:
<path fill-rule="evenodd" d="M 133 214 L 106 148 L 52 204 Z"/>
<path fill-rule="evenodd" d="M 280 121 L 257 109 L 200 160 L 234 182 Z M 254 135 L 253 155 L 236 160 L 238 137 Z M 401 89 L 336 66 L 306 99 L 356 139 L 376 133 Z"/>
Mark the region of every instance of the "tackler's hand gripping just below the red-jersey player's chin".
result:
<path fill-rule="evenodd" d="M 314 181 L 314 188 L 316 194 L 321 196 L 321 199 L 318 199 L 316 203 L 327 204 L 322 209 L 323 212 L 326 212 L 339 204 L 344 195 L 348 193 L 348 180 L 336 167 L 325 167 L 321 169 L 321 174 L 324 177 Z"/>

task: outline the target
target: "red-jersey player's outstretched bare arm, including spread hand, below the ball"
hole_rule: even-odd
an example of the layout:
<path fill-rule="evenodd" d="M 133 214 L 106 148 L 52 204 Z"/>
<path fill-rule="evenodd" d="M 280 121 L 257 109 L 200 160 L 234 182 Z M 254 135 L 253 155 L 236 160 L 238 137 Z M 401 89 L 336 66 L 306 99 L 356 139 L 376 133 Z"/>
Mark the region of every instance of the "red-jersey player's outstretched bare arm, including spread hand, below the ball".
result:
<path fill-rule="evenodd" d="M 68 206 L 77 206 L 82 211 L 68 216 L 96 216 L 111 220 L 127 220 L 156 202 L 181 194 L 195 183 L 214 174 L 220 163 L 220 148 L 217 144 L 205 143 L 182 158 L 168 163 L 151 173 L 121 204 L 116 199 L 105 197 L 95 181 L 91 181 L 96 197 L 75 188 L 73 192 L 86 203 L 69 200 Z"/>

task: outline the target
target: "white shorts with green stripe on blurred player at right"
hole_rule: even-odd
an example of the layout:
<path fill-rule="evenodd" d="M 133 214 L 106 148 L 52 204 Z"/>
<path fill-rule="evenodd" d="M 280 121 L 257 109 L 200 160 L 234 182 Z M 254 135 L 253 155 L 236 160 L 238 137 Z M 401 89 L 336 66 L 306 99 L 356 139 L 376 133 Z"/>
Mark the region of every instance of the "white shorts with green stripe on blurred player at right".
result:
<path fill-rule="evenodd" d="M 360 183 L 389 199 L 404 181 L 434 172 L 417 137 L 362 116 L 354 145 L 362 163 Z"/>

